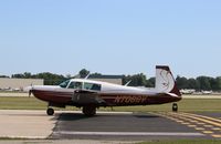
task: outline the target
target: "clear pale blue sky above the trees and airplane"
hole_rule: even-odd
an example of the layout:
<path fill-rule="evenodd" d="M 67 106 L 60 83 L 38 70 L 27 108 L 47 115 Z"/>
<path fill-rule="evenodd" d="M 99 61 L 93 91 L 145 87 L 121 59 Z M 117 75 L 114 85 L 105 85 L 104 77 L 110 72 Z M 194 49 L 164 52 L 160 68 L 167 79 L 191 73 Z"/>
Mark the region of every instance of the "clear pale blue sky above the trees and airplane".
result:
<path fill-rule="evenodd" d="M 2 0 L 0 75 L 221 76 L 220 0 Z"/>

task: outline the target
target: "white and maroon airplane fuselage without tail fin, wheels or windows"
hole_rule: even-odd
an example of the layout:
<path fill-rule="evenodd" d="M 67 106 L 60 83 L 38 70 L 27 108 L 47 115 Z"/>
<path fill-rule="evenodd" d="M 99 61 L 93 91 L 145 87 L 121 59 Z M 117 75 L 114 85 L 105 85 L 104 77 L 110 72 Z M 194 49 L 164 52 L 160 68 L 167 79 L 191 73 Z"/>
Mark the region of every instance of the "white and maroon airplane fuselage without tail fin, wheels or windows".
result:
<path fill-rule="evenodd" d="M 125 106 L 125 105 L 149 105 L 177 102 L 181 96 L 170 93 L 157 93 L 154 90 L 95 82 L 90 80 L 74 80 L 75 82 L 90 82 L 101 84 L 101 91 L 90 91 L 84 93 L 83 89 L 69 89 L 61 86 L 35 86 L 32 93 L 35 97 L 60 105 L 84 106 L 95 104 L 97 106 Z M 76 94 L 82 91 L 83 94 Z M 88 97 L 93 97 L 88 100 Z M 76 100 L 75 100 L 76 99 Z M 77 100 L 78 99 L 78 100 Z M 93 100 L 103 100 L 99 102 Z"/>

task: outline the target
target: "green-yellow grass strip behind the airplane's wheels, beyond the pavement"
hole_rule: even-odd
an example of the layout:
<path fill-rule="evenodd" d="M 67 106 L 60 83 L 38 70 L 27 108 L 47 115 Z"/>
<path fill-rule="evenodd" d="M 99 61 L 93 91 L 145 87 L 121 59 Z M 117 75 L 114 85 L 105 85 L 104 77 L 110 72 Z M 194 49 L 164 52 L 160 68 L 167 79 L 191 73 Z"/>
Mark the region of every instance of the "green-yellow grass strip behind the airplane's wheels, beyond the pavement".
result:
<path fill-rule="evenodd" d="M 45 110 L 46 103 L 35 97 L 0 97 L 0 110 Z M 182 112 L 221 112 L 221 99 L 183 99 L 178 103 L 179 111 Z M 65 110 L 78 110 L 74 106 L 67 106 Z M 110 107 L 101 107 L 102 111 L 112 111 Z M 158 112 L 171 111 L 171 103 L 161 105 L 146 106 L 118 106 L 114 111 L 128 112 Z"/>

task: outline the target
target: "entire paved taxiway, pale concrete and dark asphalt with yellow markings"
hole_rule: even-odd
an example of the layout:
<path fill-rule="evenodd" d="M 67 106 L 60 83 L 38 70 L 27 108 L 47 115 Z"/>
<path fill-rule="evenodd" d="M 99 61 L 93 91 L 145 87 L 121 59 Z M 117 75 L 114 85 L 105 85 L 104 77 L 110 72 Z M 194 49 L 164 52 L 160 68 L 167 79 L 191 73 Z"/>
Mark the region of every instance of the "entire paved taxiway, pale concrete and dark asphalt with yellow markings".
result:
<path fill-rule="evenodd" d="M 220 113 L 81 112 L 0 110 L 0 137 L 49 140 L 149 141 L 221 138 Z"/>

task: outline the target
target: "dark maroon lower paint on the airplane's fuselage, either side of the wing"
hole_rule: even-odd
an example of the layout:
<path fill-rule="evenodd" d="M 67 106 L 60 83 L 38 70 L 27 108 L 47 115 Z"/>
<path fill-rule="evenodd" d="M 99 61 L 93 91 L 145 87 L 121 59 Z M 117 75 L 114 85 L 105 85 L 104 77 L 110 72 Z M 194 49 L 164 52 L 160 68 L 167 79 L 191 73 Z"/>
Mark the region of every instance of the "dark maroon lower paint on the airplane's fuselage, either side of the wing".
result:
<path fill-rule="evenodd" d="M 69 105 L 72 103 L 72 95 L 74 92 L 53 92 L 32 90 L 35 97 L 59 104 Z M 177 102 L 181 97 L 173 97 L 167 94 L 160 95 L 144 95 L 144 94 L 117 94 L 117 93 L 99 93 L 98 96 L 106 102 L 106 105 L 148 105 L 148 104 L 164 104 L 169 102 Z"/>

